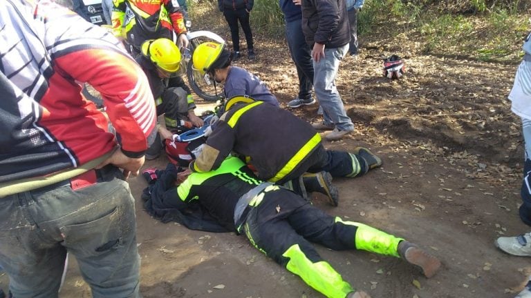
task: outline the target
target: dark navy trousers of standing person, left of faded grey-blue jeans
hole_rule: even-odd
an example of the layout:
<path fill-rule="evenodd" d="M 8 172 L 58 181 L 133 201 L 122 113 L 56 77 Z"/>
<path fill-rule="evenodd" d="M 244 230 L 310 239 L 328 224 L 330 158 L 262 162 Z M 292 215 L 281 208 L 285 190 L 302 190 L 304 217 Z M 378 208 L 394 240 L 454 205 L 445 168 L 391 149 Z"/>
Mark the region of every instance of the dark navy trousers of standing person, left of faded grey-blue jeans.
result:
<path fill-rule="evenodd" d="M 299 99 L 310 99 L 313 88 L 313 63 L 311 49 L 304 40 L 301 19 L 286 23 L 286 40 L 290 49 L 291 59 L 297 68 L 299 77 Z"/>

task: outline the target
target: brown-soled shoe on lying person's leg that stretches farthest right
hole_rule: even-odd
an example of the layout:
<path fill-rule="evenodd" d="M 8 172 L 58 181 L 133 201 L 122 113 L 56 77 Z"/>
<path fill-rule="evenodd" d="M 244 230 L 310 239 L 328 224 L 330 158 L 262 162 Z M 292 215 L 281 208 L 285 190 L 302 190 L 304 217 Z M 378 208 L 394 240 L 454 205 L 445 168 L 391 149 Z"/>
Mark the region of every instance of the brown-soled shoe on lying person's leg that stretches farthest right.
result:
<path fill-rule="evenodd" d="M 398 244 L 398 255 L 406 260 L 409 264 L 413 264 L 422 269 L 425 277 L 433 277 L 440 268 L 440 261 L 429 255 L 424 250 L 420 249 L 416 244 L 408 241 L 400 241 Z"/>

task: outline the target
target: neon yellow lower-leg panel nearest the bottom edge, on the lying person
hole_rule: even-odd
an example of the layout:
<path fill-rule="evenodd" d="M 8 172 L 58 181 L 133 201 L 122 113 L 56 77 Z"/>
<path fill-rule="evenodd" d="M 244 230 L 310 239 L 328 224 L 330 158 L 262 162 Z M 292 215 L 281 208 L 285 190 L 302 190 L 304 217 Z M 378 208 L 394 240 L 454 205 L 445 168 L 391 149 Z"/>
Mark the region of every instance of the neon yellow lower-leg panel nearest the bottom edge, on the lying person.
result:
<path fill-rule="evenodd" d="M 289 259 L 286 269 L 299 275 L 308 286 L 321 292 L 326 297 L 344 298 L 354 289 L 343 280 L 341 275 L 326 261 L 313 262 L 301 250 L 299 244 L 288 248 L 282 257 Z"/>

